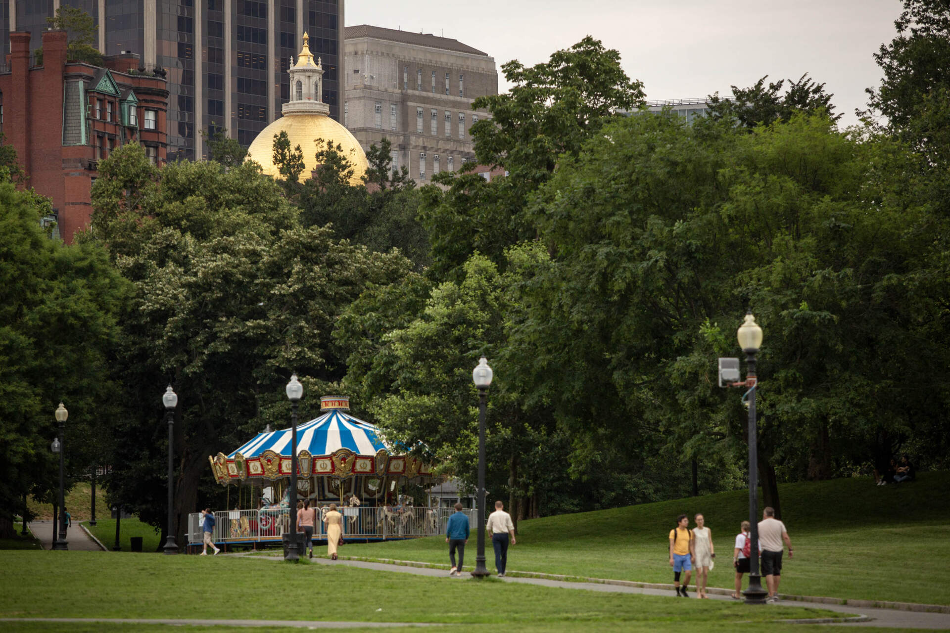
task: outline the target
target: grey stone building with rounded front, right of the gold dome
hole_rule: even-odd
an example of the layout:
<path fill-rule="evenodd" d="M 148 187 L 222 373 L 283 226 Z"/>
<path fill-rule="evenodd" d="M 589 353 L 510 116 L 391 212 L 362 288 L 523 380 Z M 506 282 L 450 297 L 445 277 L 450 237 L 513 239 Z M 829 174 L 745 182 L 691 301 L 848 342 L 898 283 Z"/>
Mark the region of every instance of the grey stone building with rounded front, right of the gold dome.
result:
<path fill-rule="evenodd" d="M 472 101 L 498 94 L 495 60 L 458 40 L 362 25 L 346 28 L 343 124 L 364 150 L 384 137 L 392 166 L 420 184 L 474 160 Z"/>

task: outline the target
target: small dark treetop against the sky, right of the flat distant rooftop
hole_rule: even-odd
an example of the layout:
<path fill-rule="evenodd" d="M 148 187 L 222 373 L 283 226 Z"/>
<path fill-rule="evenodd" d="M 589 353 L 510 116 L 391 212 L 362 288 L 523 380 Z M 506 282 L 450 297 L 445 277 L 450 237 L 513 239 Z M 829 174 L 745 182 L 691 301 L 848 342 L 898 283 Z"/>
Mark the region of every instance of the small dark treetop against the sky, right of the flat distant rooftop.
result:
<path fill-rule="evenodd" d="M 765 82 L 768 75 L 748 88 L 732 86 L 732 98 L 720 99 L 719 93 L 709 96 L 708 116 L 714 119 L 734 119 L 746 128 L 756 125 L 769 125 L 776 121 L 788 122 L 796 113 L 818 114 L 824 112 L 831 121 L 838 121 L 842 115 L 834 114 L 833 94 L 825 92 L 825 84 L 818 84 L 802 75 L 797 82 L 788 80 L 788 90 L 781 94 L 786 80 Z"/>

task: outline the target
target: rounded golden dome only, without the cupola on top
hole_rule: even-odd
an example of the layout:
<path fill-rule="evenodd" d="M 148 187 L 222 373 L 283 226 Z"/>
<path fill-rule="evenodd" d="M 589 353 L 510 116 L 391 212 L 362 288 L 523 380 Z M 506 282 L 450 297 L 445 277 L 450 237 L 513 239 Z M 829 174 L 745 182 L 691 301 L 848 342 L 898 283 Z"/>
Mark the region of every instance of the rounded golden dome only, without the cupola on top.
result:
<path fill-rule="evenodd" d="M 274 164 L 274 135 L 280 132 L 287 132 L 287 138 L 291 141 L 291 149 L 300 145 L 303 151 L 303 173 L 301 180 L 310 178 L 310 174 L 316 169 L 316 143 L 314 140 L 323 139 L 327 142 L 333 142 L 333 145 L 339 144 L 343 148 L 343 155 L 349 158 L 353 166 L 353 175 L 350 183 L 355 186 L 363 184 L 362 177 L 366 174 L 370 164 L 366 160 L 366 154 L 360 147 L 359 141 L 350 134 L 350 130 L 343 127 L 330 117 L 322 114 L 288 114 L 277 119 L 265 127 L 251 147 L 247 150 L 247 160 L 254 160 L 260 164 L 265 174 L 273 177 L 281 177 L 280 171 Z"/>

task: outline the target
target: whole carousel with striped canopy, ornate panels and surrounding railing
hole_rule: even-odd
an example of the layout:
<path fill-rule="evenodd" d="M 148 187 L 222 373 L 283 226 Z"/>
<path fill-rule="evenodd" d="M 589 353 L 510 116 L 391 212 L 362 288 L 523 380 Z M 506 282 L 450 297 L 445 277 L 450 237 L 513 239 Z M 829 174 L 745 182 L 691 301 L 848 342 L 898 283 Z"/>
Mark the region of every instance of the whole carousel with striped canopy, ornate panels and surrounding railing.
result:
<path fill-rule="evenodd" d="M 320 517 L 336 504 L 345 540 L 370 542 L 442 533 L 447 508 L 414 506 L 410 486 L 437 480 L 422 460 L 393 450 L 378 429 L 348 412 L 348 398 L 320 399 L 318 418 L 297 425 L 297 497 Z M 215 512 L 212 538 L 234 546 L 279 545 L 290 530 L 292 433 L 266 429 L 233 453 L 209 456 L 215 480 L 228 488 L 228 508 Z M 235 487 L 232 494 L 231 486 Z M 296 504 L 293 504 L 294 508 Z M 189 545 L 202 540 L 200 516 L 189 515 Z M 314 541 L 326 539 L 322 521 Z"/>

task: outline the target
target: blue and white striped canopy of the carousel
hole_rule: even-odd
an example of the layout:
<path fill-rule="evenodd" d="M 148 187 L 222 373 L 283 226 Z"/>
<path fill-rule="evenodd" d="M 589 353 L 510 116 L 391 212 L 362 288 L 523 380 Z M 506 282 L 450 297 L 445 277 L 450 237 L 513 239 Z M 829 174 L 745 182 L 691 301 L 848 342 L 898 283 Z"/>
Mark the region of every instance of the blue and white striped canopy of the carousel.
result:
<path fill-rule="evenodd" d="M 245 459 L 252 459 L 268 449 L 277 455 L 289 457 L 292 435 L 291 429 L 259 433 L 256 438 L 231 453 L 228 459 L 234 459 L 238 453 Z M 301 451 L 309 451 L 312 456 L 324 456 L 341 448 L 348 448 L 361 456 L 374 456 L 384 448 L 390 451 L 390 446 L 379 438 L 375 426 L 339 409 L 297 425 L 297 455 Z"/>

